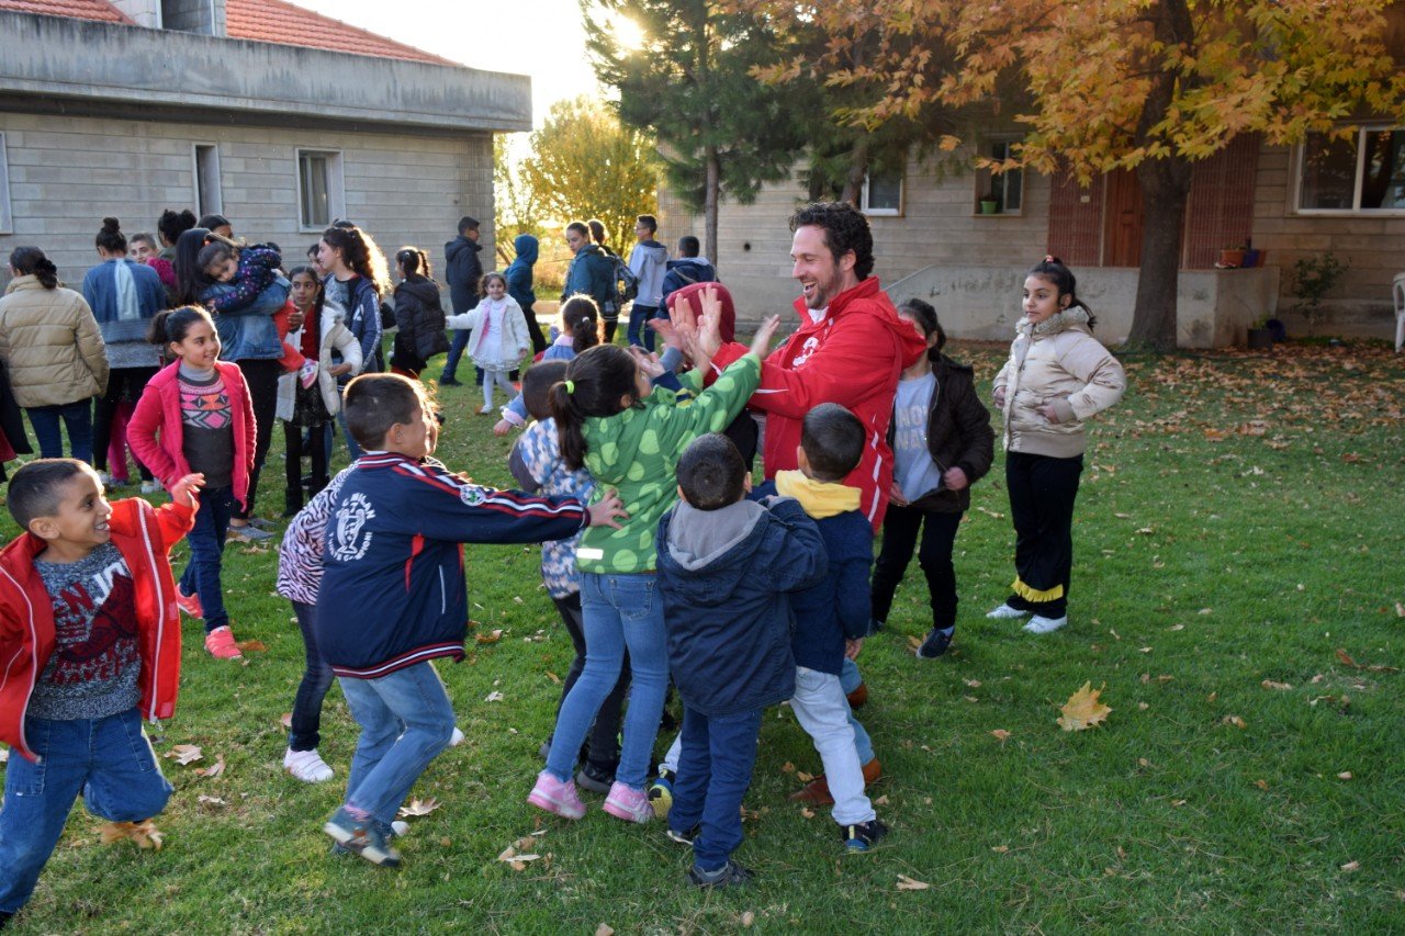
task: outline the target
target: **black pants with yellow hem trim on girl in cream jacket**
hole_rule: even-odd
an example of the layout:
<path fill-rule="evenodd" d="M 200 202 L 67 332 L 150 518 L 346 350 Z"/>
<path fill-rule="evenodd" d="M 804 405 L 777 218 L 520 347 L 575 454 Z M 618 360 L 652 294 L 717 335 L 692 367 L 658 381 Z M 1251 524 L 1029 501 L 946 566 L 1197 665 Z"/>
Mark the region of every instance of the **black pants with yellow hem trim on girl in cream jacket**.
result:
<path fill-rule="evenodd" d="M 1052 458 L 1006 453 L 1005 485 L 1014 521 L 1016 579 L 1010 607 L 1043 617 L 1068 613 L 1073 569 L 1073 500 L 1083 457 Z"/>

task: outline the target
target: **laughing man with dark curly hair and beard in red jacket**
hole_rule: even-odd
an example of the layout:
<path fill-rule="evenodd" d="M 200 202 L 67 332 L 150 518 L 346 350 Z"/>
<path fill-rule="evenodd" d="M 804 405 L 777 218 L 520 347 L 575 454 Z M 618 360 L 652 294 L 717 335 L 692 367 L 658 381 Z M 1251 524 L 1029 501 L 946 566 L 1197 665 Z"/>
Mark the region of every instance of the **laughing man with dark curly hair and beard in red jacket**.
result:
<path fill-rule="evenodd" d="M 868 219 L 853 205 L 805 205 L 790 221 L 801 297 L 795 299 L 799 330 L 766 358 L 752 409 L 766 413 L 762 450 L 766 476 L 798 468 L 801 424 L 821 403 L 839 403 L 868 433 L 864 455 L 844 483 L 863 495 L 858 509 L 877 531 L 892 488 L 888 422 L 905 367 L 926 353 L 916 329 L 898 318 L 878 287 L 874 239 Z M 688 313 L 684 312 L 684 316 Z M 712 356 L 712 375 L 746 354 L 726 343 Z M 710 377 L 712 377 L 710 375 Z"/>

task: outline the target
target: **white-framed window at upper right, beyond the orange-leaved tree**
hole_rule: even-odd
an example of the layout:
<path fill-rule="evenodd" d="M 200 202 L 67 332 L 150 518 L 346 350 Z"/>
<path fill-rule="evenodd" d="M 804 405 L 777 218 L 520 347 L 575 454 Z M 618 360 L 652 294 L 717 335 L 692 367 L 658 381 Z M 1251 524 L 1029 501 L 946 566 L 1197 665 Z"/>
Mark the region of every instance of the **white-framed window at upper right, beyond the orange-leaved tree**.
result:
<path fill-rule="evenodd" d="M 1298 211 L 1405 215 L 1405 128 L 1308 134 L 1298 159 Z"/>

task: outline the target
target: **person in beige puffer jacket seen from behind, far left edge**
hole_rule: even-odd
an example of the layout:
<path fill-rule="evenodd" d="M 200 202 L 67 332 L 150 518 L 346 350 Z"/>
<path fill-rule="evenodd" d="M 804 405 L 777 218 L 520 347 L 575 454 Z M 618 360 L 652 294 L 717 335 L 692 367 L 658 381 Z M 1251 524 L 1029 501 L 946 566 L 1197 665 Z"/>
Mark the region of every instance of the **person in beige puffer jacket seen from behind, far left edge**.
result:
<path fill-rule="evenodd" d="M 62 420 L 72 455 L 91 462 L 91 399 L 107 388 L 107 350 L 93 309 L 59 285 L 58 267 L 38 247 L 15 247 L 10 274 L 0 298 L 0 358 L 14 401 L 30 415 L 44 458 L 63 457 Z"/>

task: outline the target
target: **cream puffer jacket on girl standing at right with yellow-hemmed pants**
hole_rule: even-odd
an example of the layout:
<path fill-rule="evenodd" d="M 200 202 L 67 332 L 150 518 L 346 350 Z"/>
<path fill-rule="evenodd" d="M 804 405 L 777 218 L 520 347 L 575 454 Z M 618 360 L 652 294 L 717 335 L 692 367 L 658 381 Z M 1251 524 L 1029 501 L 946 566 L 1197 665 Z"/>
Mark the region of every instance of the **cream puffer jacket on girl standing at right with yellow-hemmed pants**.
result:
<path fill-rule="evenodd" d="M 1020 319 L 992 392 L 1000 388 L 1006 451 L 1073 458 L 1087 446 L 1083 420 L 1123 398 L 1127 375 L 1093 337 L 1087 311 L 1075 305 L 1038 325 Z M 1057 423 L 1038 412 L 1050 403 Z"/>

